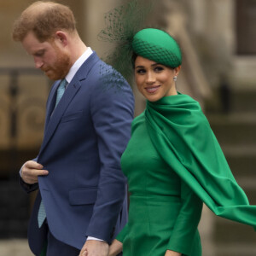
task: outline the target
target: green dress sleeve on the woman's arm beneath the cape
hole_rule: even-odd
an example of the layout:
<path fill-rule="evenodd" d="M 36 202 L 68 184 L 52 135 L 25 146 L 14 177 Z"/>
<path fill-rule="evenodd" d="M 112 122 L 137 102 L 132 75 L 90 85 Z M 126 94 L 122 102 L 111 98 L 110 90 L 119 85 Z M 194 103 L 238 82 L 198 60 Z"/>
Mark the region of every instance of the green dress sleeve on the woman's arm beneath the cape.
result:
<path fill-rule="evenodd" d="M 168 243 L 168 250 L 190 255 L 201 219 L 202 201 L 186 183 L 181 183 L 182 207 Z"/>

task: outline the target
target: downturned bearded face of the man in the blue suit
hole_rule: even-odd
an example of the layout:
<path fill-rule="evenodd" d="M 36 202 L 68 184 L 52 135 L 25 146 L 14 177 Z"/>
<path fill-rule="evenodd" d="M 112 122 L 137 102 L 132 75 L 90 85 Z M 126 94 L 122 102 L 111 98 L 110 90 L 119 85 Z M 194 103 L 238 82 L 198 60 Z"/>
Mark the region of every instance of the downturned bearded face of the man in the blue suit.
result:
<path fill-rule="evenodd" d="M 56 38 L 41 43 L 32 32 L 28 32 L 21 44 L 33 56 L 35 67 L 44 71 L 49 79 L 65 78 L 72 67 L 70 56 Z"/>

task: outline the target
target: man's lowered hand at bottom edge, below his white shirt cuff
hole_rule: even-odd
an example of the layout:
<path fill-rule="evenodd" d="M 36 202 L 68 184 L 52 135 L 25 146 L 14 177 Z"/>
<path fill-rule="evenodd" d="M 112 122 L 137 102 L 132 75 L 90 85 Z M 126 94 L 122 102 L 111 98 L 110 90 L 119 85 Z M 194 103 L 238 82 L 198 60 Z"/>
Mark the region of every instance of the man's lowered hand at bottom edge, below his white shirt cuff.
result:
<path fill-rule="evenodd" d="M 79 256 L 108 256 L 108 243 L 106 241 L 85 241 Z"/>

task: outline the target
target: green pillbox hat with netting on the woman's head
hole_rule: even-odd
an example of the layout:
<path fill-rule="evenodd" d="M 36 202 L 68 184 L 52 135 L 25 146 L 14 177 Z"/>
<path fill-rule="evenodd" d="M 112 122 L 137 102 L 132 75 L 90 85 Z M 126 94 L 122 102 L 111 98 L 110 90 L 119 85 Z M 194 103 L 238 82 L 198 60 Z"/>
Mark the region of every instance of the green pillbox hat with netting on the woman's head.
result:
<path fill-rule="evenodd" d="M 182 53 L 177 42 L 167 33 L 155 28 L 145 28 L 133 37 L 132 49 L 150 61 L 167 67 L 182 63 Z"/>

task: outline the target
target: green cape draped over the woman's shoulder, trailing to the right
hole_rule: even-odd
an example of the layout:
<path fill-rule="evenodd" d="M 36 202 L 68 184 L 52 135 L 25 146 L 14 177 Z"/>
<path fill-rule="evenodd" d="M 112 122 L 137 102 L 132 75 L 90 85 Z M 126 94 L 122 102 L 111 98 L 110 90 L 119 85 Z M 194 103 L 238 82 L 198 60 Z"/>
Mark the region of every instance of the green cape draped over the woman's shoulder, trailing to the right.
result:
<path fill-rule="evenodd" d="M 147 102 L 148 133 L 163 160 L 195 191 L 212 212 L 256 228 L 256 206 L 236 183 L 222 149 L 190 96 Z"/>

